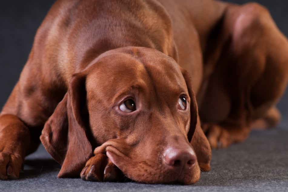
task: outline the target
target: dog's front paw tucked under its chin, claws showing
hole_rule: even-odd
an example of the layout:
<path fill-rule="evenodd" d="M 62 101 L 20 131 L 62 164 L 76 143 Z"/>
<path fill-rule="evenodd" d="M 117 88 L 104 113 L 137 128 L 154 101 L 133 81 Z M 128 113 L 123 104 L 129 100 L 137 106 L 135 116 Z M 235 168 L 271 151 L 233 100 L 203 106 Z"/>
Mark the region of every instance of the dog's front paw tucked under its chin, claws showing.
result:
<path fill-rule="evenodd" d="M 123 178 L 121 170 L 105 154 L 91 157 L 81 171 L 82 180 L 117 182 Z"/>

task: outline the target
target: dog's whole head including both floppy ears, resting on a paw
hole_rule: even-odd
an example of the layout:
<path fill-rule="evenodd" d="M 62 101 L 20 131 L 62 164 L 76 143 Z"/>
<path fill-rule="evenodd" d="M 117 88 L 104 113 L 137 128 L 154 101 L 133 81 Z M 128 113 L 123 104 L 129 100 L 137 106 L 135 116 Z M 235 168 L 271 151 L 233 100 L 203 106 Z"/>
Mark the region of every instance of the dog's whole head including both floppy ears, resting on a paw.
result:
<path fill-rule="evenodd" d="M 107 51 L 74 74 L 41 141 L 58 177 L 79 176 L 95 147 L 143 183 L 192 184 L 210 169 L 189 74 L 149 48 Z"/>

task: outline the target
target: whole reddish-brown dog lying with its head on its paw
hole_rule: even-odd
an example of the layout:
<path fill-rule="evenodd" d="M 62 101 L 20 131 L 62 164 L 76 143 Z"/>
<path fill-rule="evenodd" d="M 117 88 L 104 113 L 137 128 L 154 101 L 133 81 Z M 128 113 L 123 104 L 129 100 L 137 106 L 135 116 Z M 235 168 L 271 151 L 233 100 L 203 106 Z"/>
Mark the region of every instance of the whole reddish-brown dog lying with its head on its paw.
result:
<path fill-rule="evenodd" d="M 254 3 L 59 0 L 0 114 L 0 178 L 42 131 L 58 177 L 195 183 L 210 144 L 277 123 L 287 53 Z"/>

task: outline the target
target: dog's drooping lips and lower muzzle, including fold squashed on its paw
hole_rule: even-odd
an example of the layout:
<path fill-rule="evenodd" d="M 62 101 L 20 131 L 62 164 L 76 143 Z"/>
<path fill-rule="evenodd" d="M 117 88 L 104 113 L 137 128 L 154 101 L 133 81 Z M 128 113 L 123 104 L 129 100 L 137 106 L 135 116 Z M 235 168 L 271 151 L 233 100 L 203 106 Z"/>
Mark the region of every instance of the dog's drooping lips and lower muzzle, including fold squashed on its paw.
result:
<path fill-rule="evenodd" d="M 129 154 L 125 154 L 129 151 Z M 138 157 L 122 139 L 112 139 L 94 150 L 94 154 L 103 153 L 123 174 L 136 182 L 146 184 L 193 184 L 200 177 L 198 164 L 190 170 L 176 172 L 165 166 L 159 155 Z"/>

